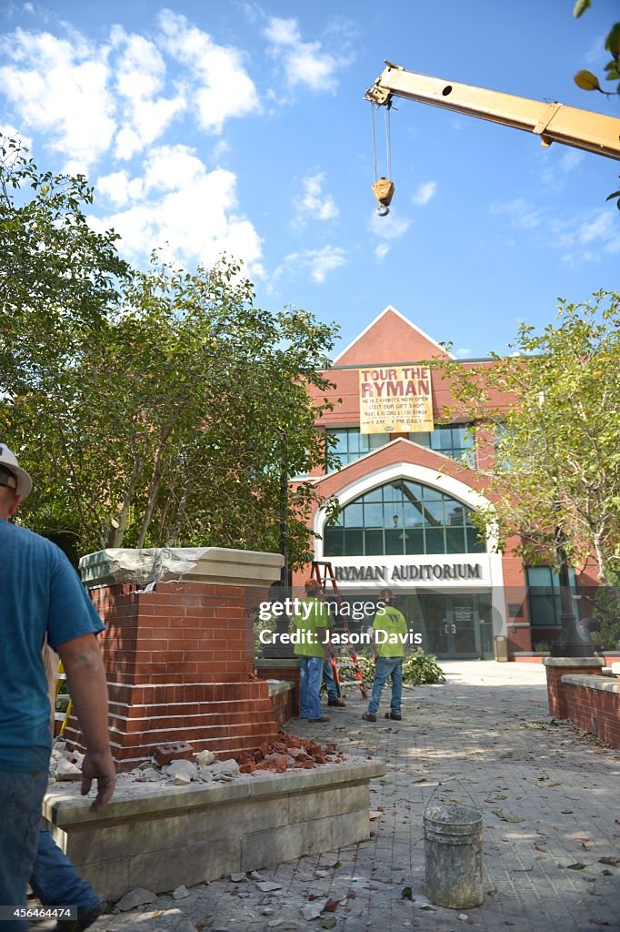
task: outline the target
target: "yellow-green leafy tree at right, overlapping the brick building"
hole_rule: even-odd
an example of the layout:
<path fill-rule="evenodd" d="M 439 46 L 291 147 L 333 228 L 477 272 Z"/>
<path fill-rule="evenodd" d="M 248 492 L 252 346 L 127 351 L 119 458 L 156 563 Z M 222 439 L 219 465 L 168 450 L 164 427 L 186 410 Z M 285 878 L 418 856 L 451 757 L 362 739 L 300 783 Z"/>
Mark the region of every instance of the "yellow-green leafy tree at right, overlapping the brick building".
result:
<path fill-rule="evenodd" d="M 493 507 L 475 520 L 498 549 L 514 535 L 528 563 L 558 565 L 561 543 L 577 562 L 594 553 L 600 580 L 620 565 L 620 295 L 560 301 L 540 334 L 521 324 L 493 363 L 447 365 L 461 416 L 495 433 L 482 463 Z"/>

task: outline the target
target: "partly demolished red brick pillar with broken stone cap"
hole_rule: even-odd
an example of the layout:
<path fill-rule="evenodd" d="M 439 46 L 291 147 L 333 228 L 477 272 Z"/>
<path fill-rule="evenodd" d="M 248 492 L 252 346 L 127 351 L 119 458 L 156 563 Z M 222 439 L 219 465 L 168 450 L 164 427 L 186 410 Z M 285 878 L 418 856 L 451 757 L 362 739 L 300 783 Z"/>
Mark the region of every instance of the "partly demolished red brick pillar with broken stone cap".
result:
<path fill-rule="evenodd" d="M 189 552 L 183 548 L 183 556 Z M 99 640 L 119 769 L 135 767 L 170 741 L 189 741 L 196 751 L 209 749 L 225 759 L 273 740 L 269 687 L 252 673 L 251 610 L 267 598 L 281 557 L 192 549 L 198 556 L 189 569 L 187 561 L 168 573 L 159 567 L 164 576 L 178 578 L 145 589 L 143 568 L 122 564 L 127 555 L 135 562 L 136 554 L 147 554 L 153 569 L 153 553 L 103 551 L 81 566 L 106 624 Z M 128 575 L 136 581 L 116 582 Z M 84 747 L 76 720 L 69 721 L 65 737 Z"/>

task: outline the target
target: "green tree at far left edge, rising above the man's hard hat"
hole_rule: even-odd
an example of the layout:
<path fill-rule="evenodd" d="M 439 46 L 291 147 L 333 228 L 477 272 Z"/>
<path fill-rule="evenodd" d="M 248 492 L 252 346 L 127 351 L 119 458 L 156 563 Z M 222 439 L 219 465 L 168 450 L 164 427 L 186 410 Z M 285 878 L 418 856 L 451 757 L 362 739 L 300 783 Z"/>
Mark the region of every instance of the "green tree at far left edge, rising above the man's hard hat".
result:
<path fill-rule="evenodd" d="M 115 233 L 88 226 L 91 202 L 83 175 L 39 171 L 0 136 L 0 391 L 27 391 L 51 355 L 62 365 L 117 299 L 128 267 Z"/>

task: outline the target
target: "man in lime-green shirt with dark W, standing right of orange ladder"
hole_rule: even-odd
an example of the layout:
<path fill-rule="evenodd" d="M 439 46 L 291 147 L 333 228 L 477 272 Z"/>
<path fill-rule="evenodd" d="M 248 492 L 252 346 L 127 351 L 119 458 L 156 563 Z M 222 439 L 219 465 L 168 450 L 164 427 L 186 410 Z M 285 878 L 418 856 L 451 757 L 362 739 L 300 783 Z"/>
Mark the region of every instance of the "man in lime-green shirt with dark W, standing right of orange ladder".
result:
<path fill-rule="evenodd" d="M 371 701 L 368 712 L 362 719 L 365 721 L 377 720 L 377 709 L 381 702 L 385 681 L 392 677 L 392 700 L 390 711 L 385 713 L 386 719 L 400 721 L 400 703 L 402 699 L 402 662 L 405 656 L 405 644 L 409 639 L 409 629 L 405 616 L 394 607 L 394 593 L 391 589 L 383 589 L 379 598 L 384 603 L 378 607 L 372 622 L 374 643 L 372 653 L 376 661 L 374 680 L 372 682 Z"/>

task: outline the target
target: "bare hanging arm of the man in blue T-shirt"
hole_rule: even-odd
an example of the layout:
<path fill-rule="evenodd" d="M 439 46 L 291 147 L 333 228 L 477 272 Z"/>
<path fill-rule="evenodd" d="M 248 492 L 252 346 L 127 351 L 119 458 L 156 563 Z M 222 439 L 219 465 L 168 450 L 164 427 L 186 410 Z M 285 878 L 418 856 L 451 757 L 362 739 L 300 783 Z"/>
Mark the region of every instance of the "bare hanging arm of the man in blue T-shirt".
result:
<path fill-rule="evenodd" d="M 92 812 L 99 812 L 110 800 L 116 782 L 108 733 L 108 686 L 101 651 L 95 636 L 87 634 L 59 644 L 58 653 L 87 743 L 82 765 L 82 795 L 86 796 L 93 779 L 97 780 L 97 796 L 90 808 Z"/>

